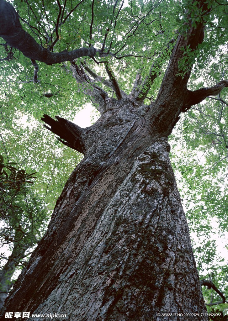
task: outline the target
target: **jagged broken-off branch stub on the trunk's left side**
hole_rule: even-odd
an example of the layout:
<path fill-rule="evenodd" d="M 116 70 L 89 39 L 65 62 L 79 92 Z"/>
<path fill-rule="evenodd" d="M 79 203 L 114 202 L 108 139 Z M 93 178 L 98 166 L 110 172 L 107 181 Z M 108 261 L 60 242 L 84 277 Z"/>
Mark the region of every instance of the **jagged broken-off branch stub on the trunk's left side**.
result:
<path fill-rule="evenodd" d="M 64 118 L 56 116 L 56 119 L 57 121 L 46 114 L 41 118 L 41 120 L 50 126 L 44 125 L 44 127 L 52 133 L 57 134 L 60 137 L 58 140 L 61 143 L 84 154 L 85 146 L 82 138 L 83 129 Z"/>

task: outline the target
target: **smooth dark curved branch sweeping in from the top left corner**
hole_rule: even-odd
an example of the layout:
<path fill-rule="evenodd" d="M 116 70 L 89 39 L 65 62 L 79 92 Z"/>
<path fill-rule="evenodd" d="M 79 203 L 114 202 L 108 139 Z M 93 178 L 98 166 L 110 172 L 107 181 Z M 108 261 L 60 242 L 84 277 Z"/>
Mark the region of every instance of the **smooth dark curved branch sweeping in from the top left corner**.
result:
<path fill-rule="evenodd" d="M 64 61 L 73 61 L 83 56 L 94 56 L 95 48 L 80 48 L 72 51 L 50 52 L 41 47 L 28 32 L 22 29 L 19 17 L 13 6 L 0 0 L 0 36 L 13 48 L 19 49 L 22 54 L 33 60 L 48 65 Z"/>

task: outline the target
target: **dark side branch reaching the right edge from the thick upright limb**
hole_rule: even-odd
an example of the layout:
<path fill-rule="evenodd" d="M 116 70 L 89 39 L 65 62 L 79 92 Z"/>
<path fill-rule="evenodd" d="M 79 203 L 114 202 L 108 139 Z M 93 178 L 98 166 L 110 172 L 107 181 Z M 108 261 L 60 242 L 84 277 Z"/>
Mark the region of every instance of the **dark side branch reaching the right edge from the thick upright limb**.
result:
<path fill-rule="evenodd" d="M 223 90 L 224 87 L 228 87 L 228 81 L 222 80 L 221 82 L 217 83 L 213 87 L 209 88 L 201 88 L 196 91 L 188 91 L 188 99 L 184 105 L 184 107 L 181 109 L 182 112 L 187 111 L 191 106 L 196 105 L 203 101 L 208 96 L 216 96 L 220 93 L 220 91 Z"/>

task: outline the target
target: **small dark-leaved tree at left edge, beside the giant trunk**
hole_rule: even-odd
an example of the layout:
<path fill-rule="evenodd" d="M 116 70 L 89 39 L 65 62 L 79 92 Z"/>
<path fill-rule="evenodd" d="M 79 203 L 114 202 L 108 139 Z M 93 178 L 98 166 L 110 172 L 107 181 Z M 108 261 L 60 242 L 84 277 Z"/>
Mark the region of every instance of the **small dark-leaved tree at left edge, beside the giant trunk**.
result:
<path fill-rule="evenodd" d="M 3 257 L 6 262 L 0 269 L 0 308 L 13 285 L 15 270 L 24 266 L 25 258 L 41 237 L 47 221 L 47 211 L 38 195 L 31 193 L 28 185 L 36 178 L 6 163 L 0 155 L 0 242 L 1 246 L 10 246 L 12 253 Z"/>

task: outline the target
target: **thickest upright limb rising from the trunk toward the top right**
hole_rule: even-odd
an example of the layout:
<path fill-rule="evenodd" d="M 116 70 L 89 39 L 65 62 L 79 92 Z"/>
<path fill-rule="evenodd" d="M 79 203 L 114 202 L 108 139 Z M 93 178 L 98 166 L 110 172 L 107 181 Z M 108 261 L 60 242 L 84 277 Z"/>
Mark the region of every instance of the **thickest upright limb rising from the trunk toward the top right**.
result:
<path fill-rule="evenodd" d="M 206 0 L 200 0 L 197 3 L 197 8 L 204 13 L 204 16 L 211 10 L 208 9 L 207 5 Z M 172 51 L 157 98 L 146 114 L 150 124 L 157 128 L 158 132 L 164 136 L 171 134 L 173 127 L 180 119 L 179 115 L 185 105 L 186 95 L 188 96 L 187 83 L 192 65 L 189 65 L 186 71 L 180 70 L 179 62 L 185 55 L 183 49 L 189 48 L 194 53 L 197 50 L 198 44 L 201 44 L 204 39 L 205 23 L 202 20 L 199 20 L 199 22 L 193 21 L 191 14 L 192 12 L 188 12 L 188 22 L 184 23 L 187 32 L 180 33 Z M 183 75 L 177 75 L 182 71 Z"/>

